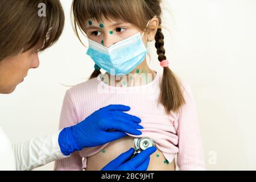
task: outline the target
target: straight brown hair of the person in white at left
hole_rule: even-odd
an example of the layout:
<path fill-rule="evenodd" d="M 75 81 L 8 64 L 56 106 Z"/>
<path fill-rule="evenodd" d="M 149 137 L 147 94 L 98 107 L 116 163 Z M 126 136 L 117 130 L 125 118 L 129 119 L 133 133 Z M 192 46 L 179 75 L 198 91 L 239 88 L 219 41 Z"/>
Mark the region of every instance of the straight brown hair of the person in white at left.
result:
<path fill-rule="evenodd" d="M 39 14 L 40 3 L 46 7 L 46 16 Z M 43 44 L 38 51 L 52 46 L 63 31 L 64 21 L 59 0 L 1 0 L 0 61 L 26 52 L 38 43 Z"/>

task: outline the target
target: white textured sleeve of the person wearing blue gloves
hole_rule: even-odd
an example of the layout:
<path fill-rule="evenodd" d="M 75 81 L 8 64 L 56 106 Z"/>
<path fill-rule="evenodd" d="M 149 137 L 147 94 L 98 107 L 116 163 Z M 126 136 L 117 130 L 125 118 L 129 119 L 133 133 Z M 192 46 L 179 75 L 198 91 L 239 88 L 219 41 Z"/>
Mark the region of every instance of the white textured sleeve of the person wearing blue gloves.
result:
<path fill-rule="evenodd" d="M 67 158 L 60 151 L 59 133 L 12 145 L 0 127 L 0 170 L 31 170 Z"/>

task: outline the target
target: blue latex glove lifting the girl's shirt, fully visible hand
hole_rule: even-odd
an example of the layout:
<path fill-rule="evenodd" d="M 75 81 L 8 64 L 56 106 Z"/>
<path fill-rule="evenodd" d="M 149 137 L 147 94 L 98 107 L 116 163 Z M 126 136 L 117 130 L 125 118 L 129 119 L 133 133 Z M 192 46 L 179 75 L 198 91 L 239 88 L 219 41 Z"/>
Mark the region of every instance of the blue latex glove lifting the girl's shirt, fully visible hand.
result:
<path fill-rule="evenodd" d="M 138 124 L 141 119 L 123 113 L 129 110 L 129 106 L 109 105 L 95 111 L 77 125 L 64 128 L 58 139 L 61 152 L 64 155 L 70 155 L 85 147 L 113 142 L 125 137 L 126 133 L 141 135 L 141 131 L 138 130 L 143 129 Z"/>

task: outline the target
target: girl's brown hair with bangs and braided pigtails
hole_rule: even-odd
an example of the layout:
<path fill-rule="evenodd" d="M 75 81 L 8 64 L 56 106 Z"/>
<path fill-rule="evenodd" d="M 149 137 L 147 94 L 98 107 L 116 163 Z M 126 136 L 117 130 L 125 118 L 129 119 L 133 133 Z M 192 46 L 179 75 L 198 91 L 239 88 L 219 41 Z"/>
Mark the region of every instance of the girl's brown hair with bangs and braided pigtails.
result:
<path fill-rule="evenodd" d="M 155 47 L 158 53 L 158 60 L 166 60 L 164 49 L 164 35 L 162 32 L 162 0 L 73 0 L 73 25 L 79 40 L 79 31 L 86 36 L 86 20 L 96 19 L 98 22 L 102 18 L 121 19 L 124 22 L 134 24 L 142 31 L 145 30 L 148 20 L 155 15 L 159 19 L 159 27 L 155 35 Z M 146 31 L 152 30 L 147 28 Z M 99 70 L 94 70 L 90 78 L 100 75 Z M 163 71 L 161 93 L 159 102 L 163 104 L 167 113 L 177 111 L 181 105 L 185 104 L 181 83 L 176 78 L 169 67 Z"/>

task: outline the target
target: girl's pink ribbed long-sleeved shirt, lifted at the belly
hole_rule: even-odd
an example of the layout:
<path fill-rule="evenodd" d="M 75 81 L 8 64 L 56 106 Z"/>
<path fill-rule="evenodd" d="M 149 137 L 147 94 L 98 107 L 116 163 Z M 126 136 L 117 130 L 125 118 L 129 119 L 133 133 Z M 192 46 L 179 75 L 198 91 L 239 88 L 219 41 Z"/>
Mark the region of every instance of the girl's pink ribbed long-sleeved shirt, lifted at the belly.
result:
<path fill-rule="evenodd" d="M 205 170 L 196 105 L 187 83 L 181 82 L 185 105 L 177 113 L 166 114 L 164 106 L 158 104 L 162 73 L 157 73 L 149 84 L 133 87 L 109 86 L 101 81 L 100 76 L 67 91 L 61 111 L 60 129 L 76 125 L 101 107 L 110 104 L 127 105 L 131 107 L 127 113 L 142 120 L 140 124 L 144 129 L 139 137 L 152 138 L 169 162 L 177 154 L 180 170 Z M 86 168 L 87 157 L 97 154 L 106 145 L 108 143 L 76 151 L 70 158 L 56 161 L 55 170 Z"/>

